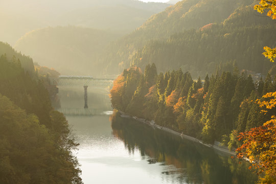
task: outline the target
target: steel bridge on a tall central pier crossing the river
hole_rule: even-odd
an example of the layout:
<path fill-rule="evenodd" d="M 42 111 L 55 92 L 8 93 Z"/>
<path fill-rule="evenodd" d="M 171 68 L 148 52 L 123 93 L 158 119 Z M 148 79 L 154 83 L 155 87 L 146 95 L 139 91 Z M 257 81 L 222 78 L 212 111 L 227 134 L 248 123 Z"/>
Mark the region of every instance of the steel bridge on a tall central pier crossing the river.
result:
<path fill-rule="evenodd" d="M 56 86 L 83 86 L 84 88 L 84 109 L 87 105 L 87 87 L 88 86 L 113 86 L 114 79 L 95 79 L 91 76 L 59 76 L 58 78 L 50 78 L 50 84 Z M 66 112 L 64 112 L 66 113 Z M 72 112 L 73 113 L 73 112 Z M 77 112 L 78 114 L 92 114 L 86 110 Z"/>

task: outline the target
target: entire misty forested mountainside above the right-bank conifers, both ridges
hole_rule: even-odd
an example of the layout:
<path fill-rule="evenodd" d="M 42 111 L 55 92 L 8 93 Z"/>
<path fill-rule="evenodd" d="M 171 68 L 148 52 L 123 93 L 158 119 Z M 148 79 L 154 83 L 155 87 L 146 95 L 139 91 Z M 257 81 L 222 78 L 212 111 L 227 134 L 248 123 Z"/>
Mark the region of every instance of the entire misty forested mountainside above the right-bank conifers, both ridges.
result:
<path fill-rule="evenodd" d="M 212 73 L 220 62 L 225 64 L 234 60 L 237 61 L 240 69 L 254 70 L 259 73 L 267 72 L 270 67 L 269 62 L 259 67 L 257 60 L 264 61 L 260 54 L 265 45 L 275 44 L 273 42 L 275 20 L 259 15 L 251 6 L 240 6 L 233 7 L 233 11 L 228 12 L 227 16 L 221 15 L 223 19 L 212 19 L 212 21 L 209 20 L 209 15 L 204 15 L 198 10 L 196 16 L 191 17 L 208 19 L 208 21 L 206 20 L 201 25 L 186 27 L 188 25 L 186 23 L 180 25 L 182 16 L 171 18 L 172 15 L 167 15 L 169 9 L 173 9 L 173 13 L 183 11 L 187 7 L 184 3 L 188 1 L 179 2 L 174 7 L 152 16 L 151 21 L 147 21 L 141 28 L 111 45 L 102 57 L 103 60 L 109 62 L 106 72 L 116 73 L 117 68 L 122 71 L 124 67 L 135 64 L 144 68 L 147 63 L 155 62 L 158 63 L 157 65 L 160 64 L 161 71 L 165 71 L 164 68 L 167 67 L 171 69 L 183 67 L 184 70 L 191 71 L 194 76 L 201 71 L 203 75 L 207 72 Z M 195 2 L 192 1 L 192 3 Z M 248 2 L 240 2 L 242 3 L 248 4 Z M 212 7 L 208 1 L 205 4 Z M 223 6 L 210 12 L 217 13 L 220 9 L 223 9 Z M 192 12 L 196 10 L 193 9 Z M 157 18 L 162 17 L 162 14 L 165 14 L 168 20 L 164 17 L 163 19 Z M 164 22 L 167 21 L 168 24 L 165 24 Z M 200 21 L 193 19 L 191 22 Z M 178 33 L 176 33 L 177 30 Z M 254 63 L 252 66 L 248 65 L 251 59 Z M 191 63 L 193 66 L 188 68 Z M 198 65 L 201 67 L 199 70 L 195 69 Z"/>

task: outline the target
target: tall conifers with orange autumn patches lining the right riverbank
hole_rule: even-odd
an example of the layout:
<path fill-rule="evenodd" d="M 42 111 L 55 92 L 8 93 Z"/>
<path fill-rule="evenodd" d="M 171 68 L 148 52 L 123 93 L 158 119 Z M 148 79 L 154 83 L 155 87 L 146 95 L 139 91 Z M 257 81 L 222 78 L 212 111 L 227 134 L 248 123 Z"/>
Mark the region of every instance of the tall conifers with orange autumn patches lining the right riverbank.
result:
<path fill-rule="evenodd" d="M 114 82 L 111 102 L 128 114 L 232 149 L 238 145 L 239 132 L 261 126 L 275 115 L 275 109 L 256 113 L 261 108 L 255 101 L 276 90 L 276 76 L 268 74 L 254 83 L 237 68 L 232 72 L 207 75 L 202 84 L 180 69 L 157 74 L 155 64 L 146 65 L 144 72 L 130 68 Z"/>

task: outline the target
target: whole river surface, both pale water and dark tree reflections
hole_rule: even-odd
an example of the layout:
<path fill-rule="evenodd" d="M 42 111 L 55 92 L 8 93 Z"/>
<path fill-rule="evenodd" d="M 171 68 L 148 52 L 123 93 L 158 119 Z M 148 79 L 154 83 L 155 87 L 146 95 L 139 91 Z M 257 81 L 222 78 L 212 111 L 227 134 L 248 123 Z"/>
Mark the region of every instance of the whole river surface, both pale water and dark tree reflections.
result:
<path fill-rule="evenodd" d="M 89 183 L 254 183 L 248 163 L 180 136 L 110 114 L 106 93 L 88 88 L 95 116 L 66 118 L 80 143 L 82 179 Z M 83 108 L 83 90 L 60 88 L 61 109 Z"/>

